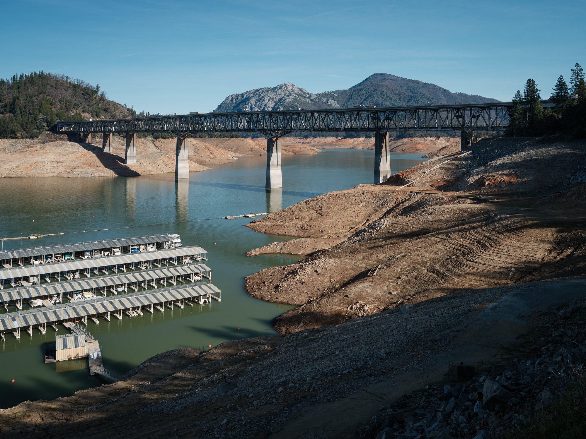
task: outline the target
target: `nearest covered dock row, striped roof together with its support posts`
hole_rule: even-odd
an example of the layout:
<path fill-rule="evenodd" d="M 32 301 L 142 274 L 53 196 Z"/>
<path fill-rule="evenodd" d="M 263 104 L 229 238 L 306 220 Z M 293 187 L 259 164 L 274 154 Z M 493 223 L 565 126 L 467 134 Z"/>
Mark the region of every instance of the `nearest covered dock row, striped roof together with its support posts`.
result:
<path fill-rule="evenodd" d="M 114 316 L 122 319 L 122 313 L 134 311 L 142 315 L 144 311 L 154 313 L 154 309 L 163 311 L 164 307 L 173 309 L 173 306 L 183 308 L 187 303 L 193 306 L 206 303 L 210 299 L 221 300 L 221 291 L 212 283 L 185 286 L 181 288 L 169 288 L 162 290 L 144 291 L 142 293 L 124 294 L 120 297 L 94 297 L 87 300 L 79 300 L 71 303 L 46 306 L 32 310 L 15 311 L 13 313 L 0 314 L 0 337 L 6 338 L 6 332 L 12 332 L 16 338 L 20 338 L 21 330 L 32 335 L 33 329 L 38 329 L 43 334 L 46 326 L 50 325 L 57 331 L 57 324 L 76 323 L 81 321 L 87 324 L 89 317 L 94 323 L 100 323 L 100 317 L 110 321 Z M 128 312 L 129 317 L 131 313 Z"/>

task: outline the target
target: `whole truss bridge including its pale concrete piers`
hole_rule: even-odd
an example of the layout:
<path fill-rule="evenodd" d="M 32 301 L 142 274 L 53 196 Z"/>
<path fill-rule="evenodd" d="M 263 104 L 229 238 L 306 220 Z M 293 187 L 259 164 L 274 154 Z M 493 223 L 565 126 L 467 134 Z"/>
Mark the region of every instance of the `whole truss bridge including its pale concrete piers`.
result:
<path fill-rule="evenodd" d="M 553 102 L 541 101 L 544 107 Z M 177 138 L 175 178 L 189 178 L 186 138 L 194 133 L 260 133 L 267 137 L 267 188 L 282 187 L 280 138 L 288 133 L 374 132 L 374 183 L 391 175 L 389 132 L 460 131 L 462 149 L 471 144 L 471 131 L 504 131 L 513 102 L 427 105 L 423 107 L 343 108 L 295 111 L 240 111 L 152 116 L 104 121 L 57 122 L 59 131 L 79 133 L 91 142 L 103 133 L 103 152 L 111 153 L 112 133 L 126 136 L 126 164 L 137 163 L 139 132 L 168 132 Z"/>

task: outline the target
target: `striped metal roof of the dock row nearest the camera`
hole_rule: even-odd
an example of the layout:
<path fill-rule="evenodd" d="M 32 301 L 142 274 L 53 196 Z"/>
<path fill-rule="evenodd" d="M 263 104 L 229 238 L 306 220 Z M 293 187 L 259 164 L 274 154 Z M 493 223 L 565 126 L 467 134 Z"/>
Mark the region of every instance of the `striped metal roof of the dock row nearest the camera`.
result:
<path fill-rule="evenodd" d="M 155 305 L 180 299 L 220 293 L 215 285 L 208 283 L 197 286 L 144 291 L 124 294 L 118 297 L 94 297 L 62 305 L 53 305 L 32 310 L 15 311 L 0 315 L 0 331 L 11 331 L 40 324 L 73 320 L 88 315 L 122 311 L 139 306 Z"/>

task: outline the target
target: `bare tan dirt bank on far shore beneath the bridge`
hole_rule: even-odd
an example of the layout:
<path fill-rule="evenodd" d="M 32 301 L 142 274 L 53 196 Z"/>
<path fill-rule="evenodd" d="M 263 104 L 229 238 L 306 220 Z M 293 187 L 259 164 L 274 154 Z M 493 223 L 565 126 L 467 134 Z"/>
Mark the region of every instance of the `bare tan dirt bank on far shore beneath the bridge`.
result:
<path fill-rule="evenodd" d="M 394 139 L 395 152 L 430 153 L 459 142 L 454 138 Z M 124 164 L 125 140 L 114 135 L 112 153 L 101 137 L 92 143 L 70 142 L 65 134 L 45 132 L 39 139 L 0 139 L 0 177 L 103 177 L 175 172 L 175 139 L 137 139 L 137 164 Z M 189 138 L 189 170 L 229 163 L 241 156 L 266 155 L 264 138 Z M 373 139 L 282 138 L 282 155 L 313 155 L 324 148 L 373 149 Z"/>

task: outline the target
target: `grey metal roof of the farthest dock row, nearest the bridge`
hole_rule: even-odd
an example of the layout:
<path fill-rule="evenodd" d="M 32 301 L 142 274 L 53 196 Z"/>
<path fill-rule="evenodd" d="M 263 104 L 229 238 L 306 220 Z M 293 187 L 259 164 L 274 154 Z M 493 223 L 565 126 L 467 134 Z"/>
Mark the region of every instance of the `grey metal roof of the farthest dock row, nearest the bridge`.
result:
<path fill-rule="evenodd" d="M 169 242 L 173 238 L 169 235 L 145 235 L 135 238 L 104 239 L 102 241 L 74 242 L 71 244 L 49 245 L 43 247 L 21 248 L 0 252 L 0 260 L 30 258 L 32 256 L 56 255 L 60 253 L 81 252 L 84 250 L 98 250 L 103 248 L 123 247 L 127 245 L 149 244 L 155 242 Z"/>

